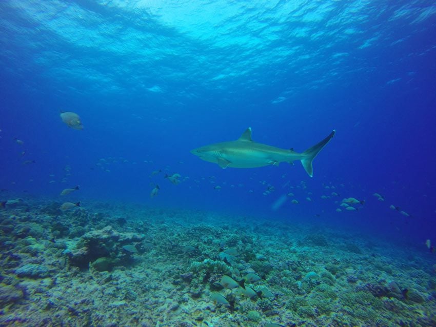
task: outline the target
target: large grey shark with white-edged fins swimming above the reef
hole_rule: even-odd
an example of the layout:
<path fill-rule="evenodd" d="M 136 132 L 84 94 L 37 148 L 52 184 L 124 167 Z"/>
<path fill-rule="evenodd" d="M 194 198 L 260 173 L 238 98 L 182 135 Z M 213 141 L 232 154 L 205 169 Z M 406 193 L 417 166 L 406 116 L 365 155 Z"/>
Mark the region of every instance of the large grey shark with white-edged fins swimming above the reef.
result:
<path fill-rule="evenodd" d="M 333 130 L 322 141 L 301 153 L 291 149 L 281 149 L 254 142 L 251 138 L 251 127 L 247 128 L 240 138 L 233 141 L 210 144 L 191 150 L 191 153 L 205 161 L 213 162 L 221 168 L 257 168 L 279 166 L 280 162 L 301 161 L 307 174 L 313 176 L 312 161 L 333 138 Z"/>

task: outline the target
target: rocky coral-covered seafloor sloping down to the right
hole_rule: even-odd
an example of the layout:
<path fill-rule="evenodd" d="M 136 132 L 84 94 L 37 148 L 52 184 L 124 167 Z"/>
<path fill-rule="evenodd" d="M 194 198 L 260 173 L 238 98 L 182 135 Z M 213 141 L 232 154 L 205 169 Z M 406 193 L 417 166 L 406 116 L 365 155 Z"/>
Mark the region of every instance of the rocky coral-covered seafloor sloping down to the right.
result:
<path fill-rule="evenodd" d="M 425 251 L 314 224 L 60 206 L 0 209 L 2 326 L 436 325 Z M 245 291 L 220 283 L 247 273 L 261 279 Z"/>

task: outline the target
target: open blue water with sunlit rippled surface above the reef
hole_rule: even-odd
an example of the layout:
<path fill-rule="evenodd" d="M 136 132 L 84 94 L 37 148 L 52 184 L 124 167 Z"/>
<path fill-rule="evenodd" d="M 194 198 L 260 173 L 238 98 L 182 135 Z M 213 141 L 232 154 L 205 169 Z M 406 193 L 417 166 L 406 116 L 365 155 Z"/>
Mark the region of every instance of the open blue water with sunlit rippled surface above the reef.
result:
<path fill-rule="evenodd" d="M 71 200 L 83 206 L 317 220 L 425 251 L 436 241 L 434 35 L 431 1 L 2 1 L 0 186 L 60 201 L 80 185 Z M 299 162 L 221 169 L 190 153 L 247 127 L 298 152 L 336 135 L 313 178 Z M 173 173 L 179 185 L 164 178 Z M 325 186 L 340 196 L 321 199 Z M 272 210 L 289 192 L 300 203 Z M 335 212 L 350 196 L 364 206 Z"/>

